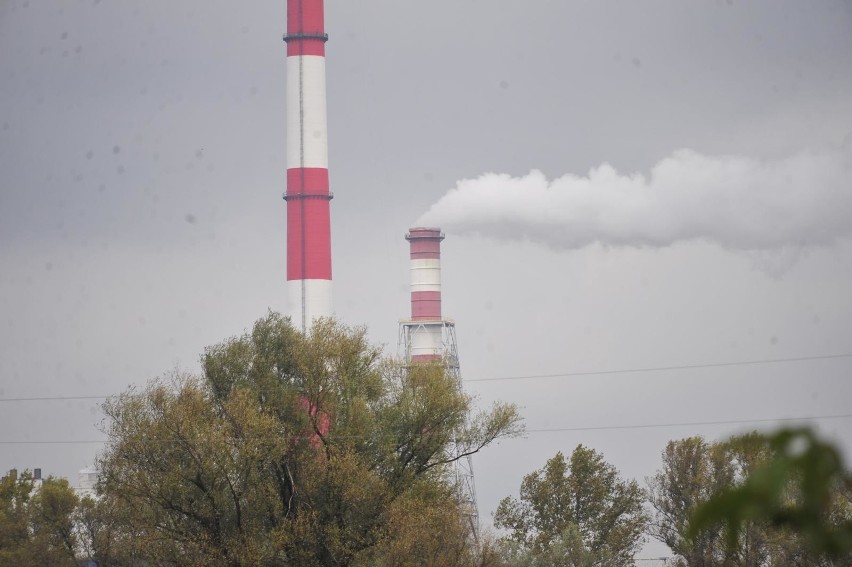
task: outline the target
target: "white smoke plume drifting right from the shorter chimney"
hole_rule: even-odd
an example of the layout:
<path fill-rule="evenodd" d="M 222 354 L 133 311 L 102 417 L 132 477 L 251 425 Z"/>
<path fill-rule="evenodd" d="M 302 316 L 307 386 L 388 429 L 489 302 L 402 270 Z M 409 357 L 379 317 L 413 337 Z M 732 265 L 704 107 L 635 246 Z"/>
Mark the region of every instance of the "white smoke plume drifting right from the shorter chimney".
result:
<path fill-rule="evenodd" d="M 552 181 L 487 173 L 459 181 L 418 224 L 554 248 L 830 245 L 852 235 L 852 147 L 768 161 L 679 150 L 649 177 L 608 164 Z"/>

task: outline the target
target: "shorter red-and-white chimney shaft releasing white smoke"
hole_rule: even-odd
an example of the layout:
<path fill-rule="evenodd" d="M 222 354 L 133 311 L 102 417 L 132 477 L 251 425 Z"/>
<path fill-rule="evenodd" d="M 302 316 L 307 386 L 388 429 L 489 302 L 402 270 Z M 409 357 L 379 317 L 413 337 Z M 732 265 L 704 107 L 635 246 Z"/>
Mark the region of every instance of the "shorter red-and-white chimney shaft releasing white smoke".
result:
<path fill-rule="evenodd" d="M 435 362 L 443 352 L 441 316 L 441 241 L 439 228 L 418 227 L 405 236 L 411 246 L 412 362 Z M 432 323 L 432 324 L 430 324 Z"/>

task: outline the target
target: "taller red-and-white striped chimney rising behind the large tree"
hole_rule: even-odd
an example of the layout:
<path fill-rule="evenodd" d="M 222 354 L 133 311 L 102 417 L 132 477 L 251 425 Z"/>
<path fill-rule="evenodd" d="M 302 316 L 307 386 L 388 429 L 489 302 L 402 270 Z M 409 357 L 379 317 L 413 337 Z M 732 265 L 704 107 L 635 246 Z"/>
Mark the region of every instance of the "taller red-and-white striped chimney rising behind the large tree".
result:
<path fill-rule="evenodd" d="M 331 222 L 323 0 L 287 0 L 287 296 L 310 330 L 331 304 Z"/>

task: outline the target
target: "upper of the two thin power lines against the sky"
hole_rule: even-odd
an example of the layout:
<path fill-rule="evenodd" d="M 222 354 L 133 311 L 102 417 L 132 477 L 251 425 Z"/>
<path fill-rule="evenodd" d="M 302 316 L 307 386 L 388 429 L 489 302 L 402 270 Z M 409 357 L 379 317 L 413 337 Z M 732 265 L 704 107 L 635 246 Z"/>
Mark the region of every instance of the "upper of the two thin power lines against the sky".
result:
<path fill-rule="evenodd" d="M 559 372 L 555 374 L 525 374 L 519 376 L 499 376 L 495 378 L 467 378 L 464 382 L 497 382 L 501 380 L 533 380 L 539 378 L 572 378 L 578 376 L 604 376 L 607 374 L 633 374 L 640 372 L 668 372 L 672 370 L 693 370 L 698 368 L 725 368 L 730 366 L 754 366 L 761 364 L 784 364 L 790 362 L 806 362 L 811 360 L 832 360 L 852 358 L 848 354 L 824 354 L 815 356 L 797 356 L 792 358 L 765 358 L 759 360 L 740 360 L 735 362 L 708 362 L 704 364 L 683 364 L 678 366 L 648 366 L 641 368 L 620 368 L 616 370 L 589 370 L 582 372 Z M 105 400 L 109 395 L 100 396 L 32 396 L 22 398 L 0 398 L 2 402 L 67 402 L 86 400 Z"/>

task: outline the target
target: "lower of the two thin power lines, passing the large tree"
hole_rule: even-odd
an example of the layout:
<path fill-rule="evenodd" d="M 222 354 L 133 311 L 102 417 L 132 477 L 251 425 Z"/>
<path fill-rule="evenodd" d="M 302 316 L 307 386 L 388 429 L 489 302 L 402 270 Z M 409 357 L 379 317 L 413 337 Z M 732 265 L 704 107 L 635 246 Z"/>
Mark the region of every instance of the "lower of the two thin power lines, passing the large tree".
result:
<path fill-rule="evenodd" d="M 852 418 L 852 413 L 831 414 L 831 415 L 809 415 L 801 417 L 774 417 L 774 418 L 758 418 L 758 419 L 726 419 L 718 421 L 684 421 L 672 423 L 641 423 L 631 425 L 596 425 L 586 427 L 552 427 L 542 429 L 527 429 L 523 433 L 561 433 L 571 431 L 606 431 L 606 430 L 621 430 L 621 429 L 653 429 L 662 427 L 698 427 L 704 425 L 743 425 L 746 423 L 777 423 L 777 422 L 795 422 L 795 421 L 812 421 L 817 419 L 849 419 Z M 293 436 L 294 439 L 311 439 L 311 435 Z M 258 438 L 260 439 L 260 438 Z M 327 439 L 375 439 L 370 435 L 329 435 Z M 0 445 L 86 445 L 94 443 L 106 443 L 107 439 L 100 440 L 48 440 L 48 441 L 0 441 Z M 183 443 L 181 439 L 147 439 L 146 442 L 155 443 Z"/>

